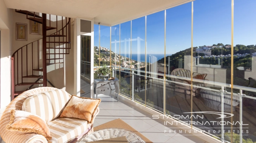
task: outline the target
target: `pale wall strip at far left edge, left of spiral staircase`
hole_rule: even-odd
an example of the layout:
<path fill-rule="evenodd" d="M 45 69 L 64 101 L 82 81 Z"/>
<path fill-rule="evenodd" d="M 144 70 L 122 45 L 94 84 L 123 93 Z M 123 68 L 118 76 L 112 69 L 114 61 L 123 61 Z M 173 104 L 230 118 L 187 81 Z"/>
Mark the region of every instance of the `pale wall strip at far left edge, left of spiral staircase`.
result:
<path fill-rule="evenodd" d="M 0 109 L 6 107 L 11 100 L 10 90 L 10 47 L 12 46 L 12 12 L 0 0 L 0 30 L 1 30 L 1 75 L 0 75 Z"/>

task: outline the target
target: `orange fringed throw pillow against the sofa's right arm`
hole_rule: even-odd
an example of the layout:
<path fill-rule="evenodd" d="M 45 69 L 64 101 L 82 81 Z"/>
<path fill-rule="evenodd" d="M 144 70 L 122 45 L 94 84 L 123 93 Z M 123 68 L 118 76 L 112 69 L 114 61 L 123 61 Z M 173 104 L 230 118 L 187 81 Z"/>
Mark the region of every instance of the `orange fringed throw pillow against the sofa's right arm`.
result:
<path fill-rule="evenodd" d="M 90 124 L 93 121 L 93 113 L 99 106 L 100 101 L 100 99 L 91 99 L 72 95 L 60 117 L 85 119 Z"/>

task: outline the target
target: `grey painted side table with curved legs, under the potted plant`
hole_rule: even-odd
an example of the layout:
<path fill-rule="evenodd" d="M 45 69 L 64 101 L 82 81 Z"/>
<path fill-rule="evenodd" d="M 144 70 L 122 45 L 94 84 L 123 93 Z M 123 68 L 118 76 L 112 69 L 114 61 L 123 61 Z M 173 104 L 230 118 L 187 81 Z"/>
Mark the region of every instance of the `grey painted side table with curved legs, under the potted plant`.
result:
<path fill-rule="evenodd" d="M 93 84 L 93 98 L 98 98 L 98 94 L 111 95 L 114 92 L 116 93 L 116 98 L 119 101 L 119 79 L 115 78 L 114 80 L 102 80 L 94 79 Z"/>

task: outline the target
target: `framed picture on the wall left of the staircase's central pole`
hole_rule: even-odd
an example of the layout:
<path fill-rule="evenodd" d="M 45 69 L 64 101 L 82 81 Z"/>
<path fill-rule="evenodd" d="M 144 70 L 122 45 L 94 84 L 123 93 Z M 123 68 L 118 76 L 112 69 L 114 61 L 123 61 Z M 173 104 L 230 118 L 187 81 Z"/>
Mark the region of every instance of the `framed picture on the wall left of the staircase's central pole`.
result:
<path fill-rule="evenodd" d="M 27 24 L 16 23 L 16 40 L 27 40 Z"/>

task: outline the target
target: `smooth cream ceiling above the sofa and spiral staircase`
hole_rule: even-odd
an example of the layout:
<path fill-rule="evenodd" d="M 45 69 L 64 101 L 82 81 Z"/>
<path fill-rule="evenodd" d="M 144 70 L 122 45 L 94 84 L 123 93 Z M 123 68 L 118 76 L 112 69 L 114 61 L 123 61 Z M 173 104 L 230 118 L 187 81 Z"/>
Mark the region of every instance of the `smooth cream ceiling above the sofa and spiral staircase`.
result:
<path fill-rule="evenodd" d="M 191 0 L 4 0 L 7 8 L 71 18 L 93 19 L 113 26 Z"/>

